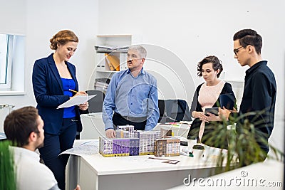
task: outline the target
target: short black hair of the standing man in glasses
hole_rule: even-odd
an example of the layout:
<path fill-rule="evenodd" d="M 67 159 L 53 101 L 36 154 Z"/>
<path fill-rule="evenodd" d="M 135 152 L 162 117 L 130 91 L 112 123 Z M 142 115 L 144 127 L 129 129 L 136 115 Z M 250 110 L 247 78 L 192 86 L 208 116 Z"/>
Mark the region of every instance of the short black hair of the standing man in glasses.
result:
<path fill-rule="evenodd" d="M 262 48 L 262 38 L 257 33 L 257 31 L 254 31 L 252 29 L 243 29 L 241 31 L 238 31 L 234 34 L 234 41 L 239 40 L 239 44 L 243 47 L 246 47 L 247 45 L 254 46 L 255 51 L 257 51 L 257 54 L 261 53 Z"/>

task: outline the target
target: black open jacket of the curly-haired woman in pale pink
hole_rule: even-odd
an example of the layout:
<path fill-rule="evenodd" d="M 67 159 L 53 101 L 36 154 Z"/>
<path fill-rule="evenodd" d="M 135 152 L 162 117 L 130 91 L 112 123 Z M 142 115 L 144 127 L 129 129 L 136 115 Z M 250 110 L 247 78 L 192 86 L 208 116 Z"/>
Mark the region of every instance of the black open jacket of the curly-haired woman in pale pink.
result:
<path fill-rule="evenodd" d="M 202 84 L 200 84 L 197 87 L 196 91 L 195 91 L 195 95 L 193 97 L 193 101 L 192 101 L 192 105 L 191 105 L 191 111 L 190 111 L 191 114 L 192 114 L 193 111 L 197 111 L 197 112 L 202 112 L 203 111 L 202 110 L 202 106 L 198 102 L 199 90 L 200 90 Z M 224 87 L 222 88 L 222 92 L 220 94 L 222 95 L 222 94 L 227 94 L 227 93 L 232 93 L 234 95 L 234 92 L 232 91 L 232 85 L 229 84 L 229 83 L 225 83 L 224 84 Z M 236 100 L 235 97 L 234 97 L 234 100 L 235 100 L 234 101 L 234 108 L 237 109 L 237 104 L 236 104 L 237 100 Z M 219 98 L 218 98 L 218 100 L 214 103 L 213 107 L 219 107 L 219 105 L 220 104 L 219 104 Z M 190 130 L 188 132 L 188 138 L 190 138 L 190 136 L 198 137 L 199 128 L 200 128 L 201 122 L 202 121 L 200 121 L 199 118 L 196 118 L 195 120 L 193 120 L 192 125 L 190 127 Z M 209 123 L 206 122 L 205 123 L 203 137 L 205 136 L 205 134 L 208 134 L 209 132 L 212 131 L 212 129 L 209 129 L 209 125 L 210 124 L 211 124 L 211 122 L 209 122 Z M 204 143 L 204 144 L 207 144 L 206 143 L 207 139 L 204 139 L 203 137 L 201 139 L 201 142 Z M 224 141 L 225 143 L 221 144 L 221 146 L 218 146 L 218 147 L 220 147 L 220 148 L 227 148 L 227 139 L 224 139 L 224 140 L 225 140 Z M 215 147 L 215 144 L 207 144 L 207 145 Z"/>

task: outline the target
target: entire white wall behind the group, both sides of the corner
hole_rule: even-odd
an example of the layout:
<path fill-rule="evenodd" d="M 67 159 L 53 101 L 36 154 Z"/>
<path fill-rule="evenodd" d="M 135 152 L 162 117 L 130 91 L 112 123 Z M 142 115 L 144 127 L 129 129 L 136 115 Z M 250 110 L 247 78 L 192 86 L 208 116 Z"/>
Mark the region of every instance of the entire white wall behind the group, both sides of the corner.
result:
<path fill-rule="evenodd" d="M 247 68 L 234 60 L 232 36 L 242 28 L 254 28 L 264 38 L 262 55 L 269 60 L 269 67 L 276 75 L 276 125 L 271 141 L 283 148 L 285 1 L 0 0 L 0 4 L 0 33 L 26 35 L 27 94 L 0 97 L 0 103 L 16 107 L 36 105 L 31 86 L 33 63 L 52 52 L 49 39 L 61 29 L 71 29 L 79 37 L 78 51 L 71 63 L 77 67 L 80 89 L 85 90 L 94 68 L 96 34 L 131 33 L 141 36 L 141 43 L 161 46 L 187 66 L 187 69 L 182 67 L 183 70 L 177 67 L 175 72 L 189 73 L 189 83 L 194 81 L 198 85 L 202 79 L 197 78 L 197 62 L 207 55 L 216 55 L 222 60 L 226 78 L 243 80 Z M 163 72 L 160 68 L 156 70 Z M 189 88 L 195 89 L 195 86 L 185 88 L 188 103 L 193 93 Z M 178 96 L 183 95 L 185 93 Z"/>

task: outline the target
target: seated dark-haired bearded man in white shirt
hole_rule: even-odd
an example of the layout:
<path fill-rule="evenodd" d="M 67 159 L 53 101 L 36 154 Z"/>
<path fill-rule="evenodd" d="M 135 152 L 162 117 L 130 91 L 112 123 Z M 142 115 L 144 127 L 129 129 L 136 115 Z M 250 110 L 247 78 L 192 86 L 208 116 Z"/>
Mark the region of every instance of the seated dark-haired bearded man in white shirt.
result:
<path fill-rule="evenodd" d="M 41 164 L 36 149 L 43 147 L 43 120 L 35 107 L 22 107 L 6 116 L 4 132 L 13 146 L 16 168 L 16 187 L 21 190 L 57 190 L 58 183 L 53 172 Z M 76 186 L 75 190 L 80 190 Z"/>

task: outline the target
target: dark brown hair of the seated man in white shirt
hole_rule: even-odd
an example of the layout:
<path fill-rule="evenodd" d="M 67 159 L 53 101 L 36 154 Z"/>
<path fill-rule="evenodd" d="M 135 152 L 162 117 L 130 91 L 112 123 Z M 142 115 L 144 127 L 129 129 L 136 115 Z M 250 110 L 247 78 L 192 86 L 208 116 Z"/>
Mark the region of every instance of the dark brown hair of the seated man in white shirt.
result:
<path fill-rule="evenodd" d="M 38 110 L 35 107 L 22 107 L 12 111 L 4 121 L 4 132 L 14 146 L 24 147 L 28 144 L 31 132 L 38 131 Z"/>

